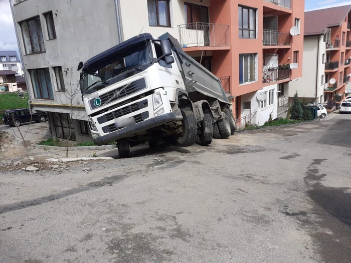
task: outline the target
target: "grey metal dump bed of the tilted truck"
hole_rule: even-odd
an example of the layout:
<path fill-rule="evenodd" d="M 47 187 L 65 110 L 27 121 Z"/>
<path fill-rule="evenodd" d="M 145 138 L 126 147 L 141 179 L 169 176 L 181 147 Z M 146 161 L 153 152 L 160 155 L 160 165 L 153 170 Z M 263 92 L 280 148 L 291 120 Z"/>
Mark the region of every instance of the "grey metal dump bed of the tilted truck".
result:
<path fill-rule="evenodd" d="M 181 67 L 180 70 L 182 71 L 188 93 L 199 92 L 229 104 L 227 95 L 218 77 L 185 53 L 177 39 L 168 33 L 163 34 L 158 39 L 169 40 L 173 53 L 175 53 L 174 59 Z"/>

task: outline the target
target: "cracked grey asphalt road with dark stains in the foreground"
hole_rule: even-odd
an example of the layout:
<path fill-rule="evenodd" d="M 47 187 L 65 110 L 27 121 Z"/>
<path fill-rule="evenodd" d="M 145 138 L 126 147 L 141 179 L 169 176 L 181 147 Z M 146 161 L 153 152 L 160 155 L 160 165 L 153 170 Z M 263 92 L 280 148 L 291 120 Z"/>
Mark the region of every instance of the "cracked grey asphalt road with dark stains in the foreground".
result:
<path fill-rule="evenodd" d="M 350 262 L 350 130 L 334 115 L 1 173 L 0 262 Z"/>

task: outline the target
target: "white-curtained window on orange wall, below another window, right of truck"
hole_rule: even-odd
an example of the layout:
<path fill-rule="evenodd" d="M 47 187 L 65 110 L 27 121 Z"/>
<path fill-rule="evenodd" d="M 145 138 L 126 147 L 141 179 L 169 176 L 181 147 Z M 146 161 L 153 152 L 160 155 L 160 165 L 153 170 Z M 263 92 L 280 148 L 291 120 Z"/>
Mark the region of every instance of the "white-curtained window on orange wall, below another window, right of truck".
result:
<path fill-rule="evenodd" d="M 239 84 L 256 81 L 257 54 L 239 54 Z"/>

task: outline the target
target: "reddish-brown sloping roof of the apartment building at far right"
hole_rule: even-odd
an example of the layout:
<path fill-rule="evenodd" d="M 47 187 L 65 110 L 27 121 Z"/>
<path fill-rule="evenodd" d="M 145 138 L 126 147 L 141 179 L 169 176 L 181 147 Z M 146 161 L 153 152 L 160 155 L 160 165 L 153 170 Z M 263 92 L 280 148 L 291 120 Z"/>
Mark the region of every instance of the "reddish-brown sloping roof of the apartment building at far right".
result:
<path fill-rule="evenodd" d="M 323 35 L 327 28 L 338 27 L 351 11 L 351 5 L 305 12 L 304 36 Z"/>

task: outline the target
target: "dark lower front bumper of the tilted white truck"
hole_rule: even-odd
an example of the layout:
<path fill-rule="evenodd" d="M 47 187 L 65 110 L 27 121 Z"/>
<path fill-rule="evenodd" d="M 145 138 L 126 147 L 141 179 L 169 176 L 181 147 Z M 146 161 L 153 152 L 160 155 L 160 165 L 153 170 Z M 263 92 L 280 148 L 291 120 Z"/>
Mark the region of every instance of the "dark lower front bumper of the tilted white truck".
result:
<path fill-rule="evenodd" d="M 132 126 L 118 129 L 117 131 L 108 133 L 106 135 L 97 137 L 93 139 L 93 142 L 96 145 L 105 145 L 115 140 L 124 138 L 124 137 L 132 137 L 134 134 L 154 128 L 156 126 L 162 125 L 164 123 L 170 121 L 179 121 L 182 120 L 183 116 L 181 111 L 178 109 L 175 112 L 169 112 L 162 114 L 160 116 L 147 119 L 145 121 L 136 123 Z"/>

